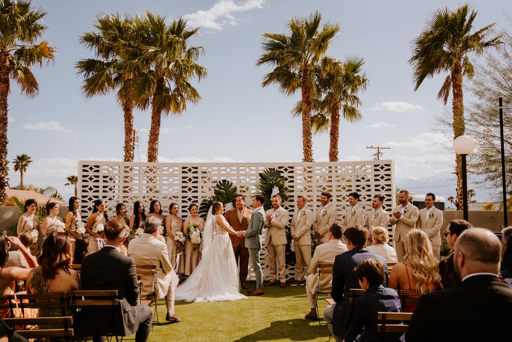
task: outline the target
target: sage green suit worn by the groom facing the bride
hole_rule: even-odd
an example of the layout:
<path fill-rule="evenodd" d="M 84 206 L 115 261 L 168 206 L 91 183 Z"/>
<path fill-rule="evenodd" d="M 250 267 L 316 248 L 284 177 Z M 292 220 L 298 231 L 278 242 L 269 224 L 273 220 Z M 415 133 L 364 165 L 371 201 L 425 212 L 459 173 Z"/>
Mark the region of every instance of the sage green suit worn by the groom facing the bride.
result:
<path fill-rule="evenodd" d="M 260 264 L 260 249 L 262 246 L 261 231 L 265 224 L 263 207 L 254 209 L 247 230 L 245 231 L 245 247 L 249 250 L 252 269 L 256 277 L 256 288 L 263 290 L 263 273 Z"/>

